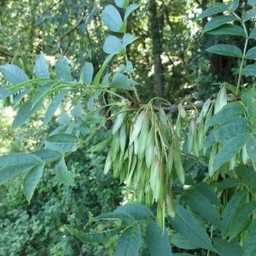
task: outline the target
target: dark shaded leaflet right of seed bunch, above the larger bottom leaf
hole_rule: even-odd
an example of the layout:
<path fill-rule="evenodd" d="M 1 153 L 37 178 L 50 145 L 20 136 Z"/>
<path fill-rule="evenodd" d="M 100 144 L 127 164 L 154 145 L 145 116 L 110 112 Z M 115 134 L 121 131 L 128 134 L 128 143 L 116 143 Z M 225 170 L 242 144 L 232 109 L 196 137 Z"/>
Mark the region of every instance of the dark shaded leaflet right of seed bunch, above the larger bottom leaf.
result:
<path fill-rule="evenodd" d="M 202 218 L 213 224 L 215 227 L 220 227 L 220 218 L 217 210 L 212 207 L 212 203 L 206 196 L 196 189 L 188 189 L 183 195 L 183 200 L 191 207 L 195 212 L 201 215 Z"/>

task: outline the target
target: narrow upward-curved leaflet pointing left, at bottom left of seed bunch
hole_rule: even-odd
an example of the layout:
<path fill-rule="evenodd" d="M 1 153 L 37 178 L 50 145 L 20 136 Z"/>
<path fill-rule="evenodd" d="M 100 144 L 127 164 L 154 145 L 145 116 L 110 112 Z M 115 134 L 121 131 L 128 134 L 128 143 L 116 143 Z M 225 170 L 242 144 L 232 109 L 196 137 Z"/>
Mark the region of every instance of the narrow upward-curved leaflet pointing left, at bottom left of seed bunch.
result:
<path fill-rule="evenodd" d="M 98 233 L 85 233 L 83 231 L 79 231 L 76 229 L 68 229 L 74 236 L 77 236 L 81 241 L 84 242 L 101 242 L 106 241 L 112 236 L 119 234 L 120 231 L 124 230 L 125 228 L 115 228 L 113 230 L 105 230 Z"/>

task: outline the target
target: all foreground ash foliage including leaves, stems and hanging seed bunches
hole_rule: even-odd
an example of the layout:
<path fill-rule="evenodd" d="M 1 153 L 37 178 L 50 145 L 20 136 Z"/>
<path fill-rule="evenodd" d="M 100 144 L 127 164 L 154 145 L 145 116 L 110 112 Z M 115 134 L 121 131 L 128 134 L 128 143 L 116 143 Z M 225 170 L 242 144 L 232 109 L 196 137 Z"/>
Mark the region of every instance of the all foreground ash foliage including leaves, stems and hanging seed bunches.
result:
<path fill-rule="evenodd" d="M 127 46 L 137 39 L 127 33 L 127 19 L 138 5 L 128 1 L 115 1 L 115 4 L 121 10 L 109 4 L 101 16 L 108 29 L 115 32 L 103 44 L 107 57 L 99 68 L 85 62 L 79 81 L 73 79 L 65 57 L 56 61 L 55 73 L 50 73 L 43 53 L 34 65 L 35 78 L 30 79 L 13 64 L 1 67 L 3 78 L 9 82 L 1 90 L 2 98 L 15 94 L 20 94 L 17 102 L 24 98 L 11 131 L 28 123 L 46 100 L 49 107 L 44 125 L 50 123 L 61 102 L 68 100 L 70 109 L 61 115 L 59 126 L 45 138 L 43 149 L 0 157 L 0 183 L 8 184 L 20 175 L 24 178 L 26 199 L 32 201 L 32 195 L 39 195 L 37 187 L 44 177 L 45 166 L 54 162 L 55 177 L 63 183 L 63 193 L 75 190 L 82 175 L 80 168 L 84 167 L 76 166 L 70 154 L 90 147 L 88 143 L 106 131 L 108 122 L 114 121 L 112 133 L 107 132 L 108 137 L 92 147 L 90 154 L 97 155 L 94 165 L 101 163 L 104 174 L 113 171 L 143 205 L 126 204 L 108 209 L 112 212 L 98 211 L 96 217 L 89 213 L 84 231 L 77 229 L 80 223 L 70 220 L 65 222 L 70 233 L 83 242 L 116 241 L 115 255 L 138 255 L 143 242 L 151 255 L 188 255 L 194 251 L 201 255 L 254 253 L 256 92 L 253 84 L 245 89 L 242 78 L 255 75 L 255 64 L 251 64 L 255 47 L 249 46 L 255 30 L 249 31 L 247 26 L 255 10 L 248 9 L 238 15 L 236 0 L 213 3 L 199 15 L 198 19 L 211 18 L 203 32 L 236 36 L 244 41 L 242 50 L 233 44 L 214 44 L 207 48 L 211 54 L 238 59 L 237 82 L 222 84 L 218 95 L 209 98 L 201 112 L 193 106 L 188 115 L 179 104 L 174 118 L 167 113 L 172 109 L 166 99 L 157 97 L 148 103 L 141 102 L 137 81 L 133 79 L 136 69 L 127 54 Z M 120 61 L 120 56 L 125 61 Z M 111 61 L 113 65 L 109 67 Z M 186 119 L 189 119 L 188 131 L 183 131 Z M 103 166 L 99 152 L 108 145 Z M 190 159 L 207 162 L 202 178 L 191 175 L 195 162 Z M 86 194 L 85 190 L 82 192 Z M 104 191 L 98 193 L 106 197 Z M 74 204 L 71 195 L 68 200 Z M 26 212 L 24 216 L 27 221 Z M 169 233 L 174 234 L 171 244 Z M 72 246 L 69 248 L 67 254 L 73 254 Z M 50 253 L 55 250 L 51 248 Z"/>

